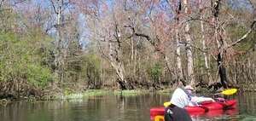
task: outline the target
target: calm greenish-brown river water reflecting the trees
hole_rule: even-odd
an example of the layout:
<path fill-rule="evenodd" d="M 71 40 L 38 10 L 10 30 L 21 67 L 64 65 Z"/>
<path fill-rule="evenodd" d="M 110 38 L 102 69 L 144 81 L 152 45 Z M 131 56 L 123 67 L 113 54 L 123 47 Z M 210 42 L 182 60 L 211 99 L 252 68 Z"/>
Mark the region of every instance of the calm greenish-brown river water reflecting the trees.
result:
<path fill-rule="evenodd" d="M 0 106 L 0 121 L 149 121 L 150 107 L 168 101 L 168 94 L 102 95 L 67 101 L 17 101 Z M 193 117 L 195 121 L 256 121 L 256 93 L 234 95 L 235 111 Z"/>

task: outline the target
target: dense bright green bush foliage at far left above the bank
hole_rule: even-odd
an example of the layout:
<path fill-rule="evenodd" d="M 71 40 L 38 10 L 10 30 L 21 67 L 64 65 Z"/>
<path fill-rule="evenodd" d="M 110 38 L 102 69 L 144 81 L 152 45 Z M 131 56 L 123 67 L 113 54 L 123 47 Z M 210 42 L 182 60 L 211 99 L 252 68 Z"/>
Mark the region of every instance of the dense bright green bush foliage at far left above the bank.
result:
<path fill-rule="evenodd" d="M 40 35 L 40 33 L 37 33 Z M 44 39 L 0 32 L 0 81 L 26 80 L 29 84 L 44 87 L 54 78 L 48 66 L 42 65 L 46 49 Z"/>

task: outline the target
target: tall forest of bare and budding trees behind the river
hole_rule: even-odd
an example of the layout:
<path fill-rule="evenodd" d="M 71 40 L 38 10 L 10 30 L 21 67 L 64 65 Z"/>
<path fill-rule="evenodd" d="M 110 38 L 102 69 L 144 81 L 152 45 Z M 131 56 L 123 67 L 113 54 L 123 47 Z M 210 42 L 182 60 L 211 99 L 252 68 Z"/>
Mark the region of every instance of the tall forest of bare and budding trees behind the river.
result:
<path fill-rule="evenodd" d="M 0 98 L 256 89 L 255 0 L 1 0 Z"/>

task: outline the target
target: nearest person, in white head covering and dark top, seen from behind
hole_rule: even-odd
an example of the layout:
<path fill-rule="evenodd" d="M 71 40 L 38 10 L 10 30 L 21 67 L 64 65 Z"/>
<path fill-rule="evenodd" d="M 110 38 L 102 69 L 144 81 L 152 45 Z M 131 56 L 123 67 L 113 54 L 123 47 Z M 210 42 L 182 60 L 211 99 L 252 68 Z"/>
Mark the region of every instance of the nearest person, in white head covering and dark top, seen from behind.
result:
<path fill-rule="evenodd" d="M 165 121 L 192 121 L 184 107 L 189 105 L 191 94 L 187 89 L 177 88 L 172 94 L 171 104 L 165 109 Z"/>

